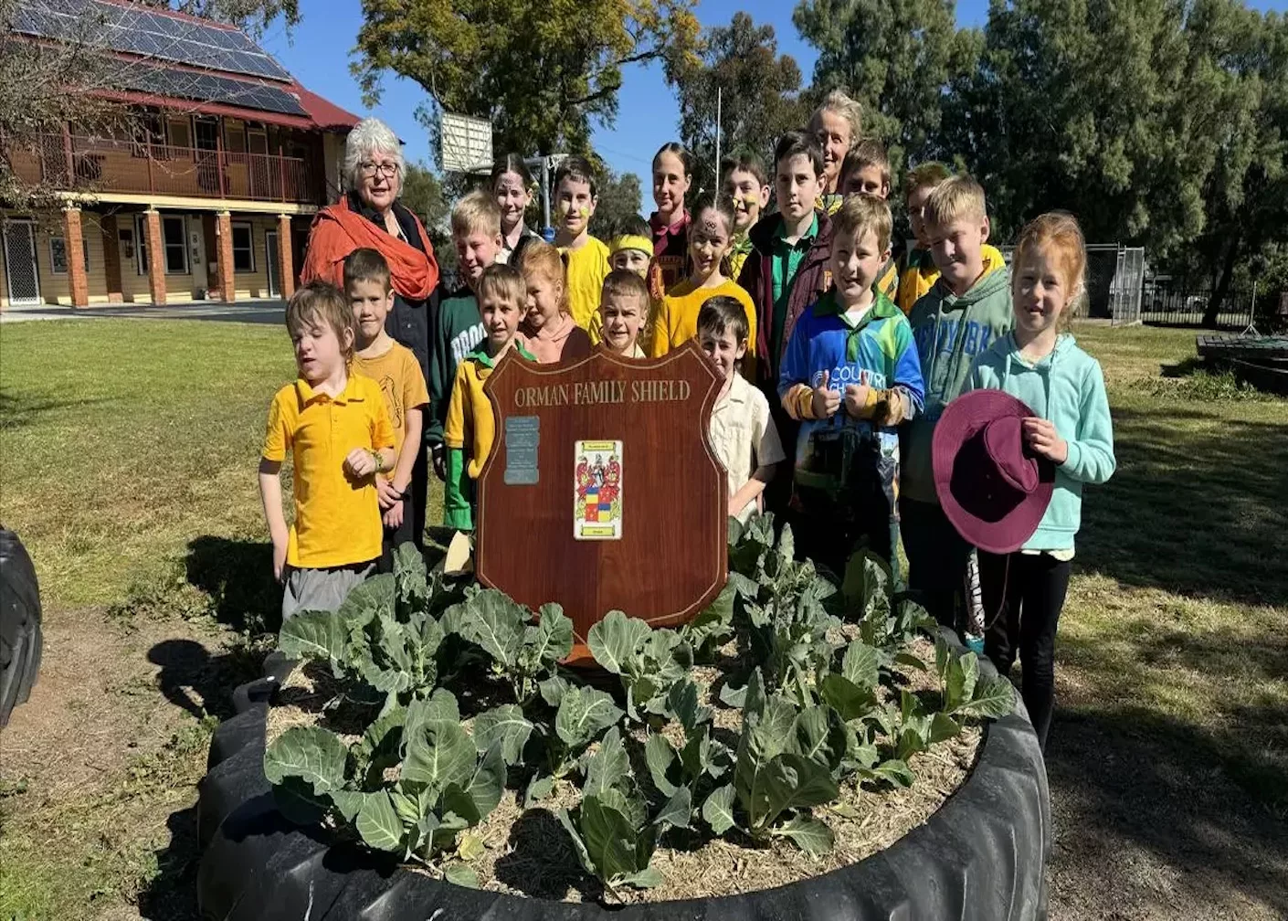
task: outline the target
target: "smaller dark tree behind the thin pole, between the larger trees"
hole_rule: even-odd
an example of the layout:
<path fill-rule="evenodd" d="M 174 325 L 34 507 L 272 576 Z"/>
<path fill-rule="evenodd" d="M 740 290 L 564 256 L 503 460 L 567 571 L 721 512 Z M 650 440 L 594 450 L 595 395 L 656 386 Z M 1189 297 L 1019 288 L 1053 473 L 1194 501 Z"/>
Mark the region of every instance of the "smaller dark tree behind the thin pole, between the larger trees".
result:
<path fill-rule="evenodd" d="M 706 32 L 702 59 L 675 73 L 680 94 L 680 140 L 694 155 L 693 192 L 717 188 L 715 176 L 716 91 L 723 153 L 750 151 L 773 164 L 774 142 L 805 124 L 809 113 L 799 98 L 801 72 L 796 61 L 778 54 L 773 26 L 756 26 L 734 13 L 728 26 Z"/>

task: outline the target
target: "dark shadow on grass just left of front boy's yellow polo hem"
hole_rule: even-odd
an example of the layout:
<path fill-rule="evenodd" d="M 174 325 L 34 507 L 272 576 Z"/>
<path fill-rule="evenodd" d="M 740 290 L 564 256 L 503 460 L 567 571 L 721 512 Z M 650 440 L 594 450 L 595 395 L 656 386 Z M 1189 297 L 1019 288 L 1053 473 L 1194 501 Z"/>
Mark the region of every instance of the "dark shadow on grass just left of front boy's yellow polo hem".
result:
<path fill-rule="evenodd" d="M 273 547 L 263 541 L 202 535 L 188 542 L 188 582 L 210 595 L 215 618 L 254 635 L 277 632 L 282 586 L 273 581 Z"/>

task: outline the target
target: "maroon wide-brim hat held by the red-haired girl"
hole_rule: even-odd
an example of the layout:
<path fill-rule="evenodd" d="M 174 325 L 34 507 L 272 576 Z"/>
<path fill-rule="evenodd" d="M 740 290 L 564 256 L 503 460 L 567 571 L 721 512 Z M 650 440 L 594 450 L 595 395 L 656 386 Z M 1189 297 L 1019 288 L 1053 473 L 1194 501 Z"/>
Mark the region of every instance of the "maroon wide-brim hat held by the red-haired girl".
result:
<path fill-rule="evenodd" d="M 1024 444 L 1023 420 L 1036 415 L 1002 390 L 971 390 L 949 403 L 935 426 L 939 504 L 980 550 L 1019 550 L 1051 504 L 1055 464 Z"/>

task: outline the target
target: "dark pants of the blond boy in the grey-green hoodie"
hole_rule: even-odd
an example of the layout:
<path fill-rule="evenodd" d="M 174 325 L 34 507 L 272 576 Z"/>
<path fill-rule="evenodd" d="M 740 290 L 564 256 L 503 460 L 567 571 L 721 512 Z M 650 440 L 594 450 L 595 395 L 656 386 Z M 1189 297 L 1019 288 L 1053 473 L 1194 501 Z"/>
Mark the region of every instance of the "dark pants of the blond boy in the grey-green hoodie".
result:
<path fill-rule="evenodd" d="M 920 593 L 926 611 L 957 630 L 958 604 L 965 605 L 970 545 L 936 502 L 899 498 L 899 532 L 908 554 L 908 587 Z"/>

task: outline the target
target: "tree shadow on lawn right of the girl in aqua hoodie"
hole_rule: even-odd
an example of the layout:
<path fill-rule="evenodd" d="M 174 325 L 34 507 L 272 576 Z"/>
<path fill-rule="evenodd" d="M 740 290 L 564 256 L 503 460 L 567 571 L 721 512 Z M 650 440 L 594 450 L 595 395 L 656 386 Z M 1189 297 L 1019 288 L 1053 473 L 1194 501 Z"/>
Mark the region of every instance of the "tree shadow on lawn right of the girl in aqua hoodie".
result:
<path fill-rule="evenodd" d="M 1194 432 L 1195 420 L 1216 424 Z M 1288 425 L 1114 411 L 1118 470 L 1084 491 L 1081 569 L 1127 585 L 1288 605 Z"/>

